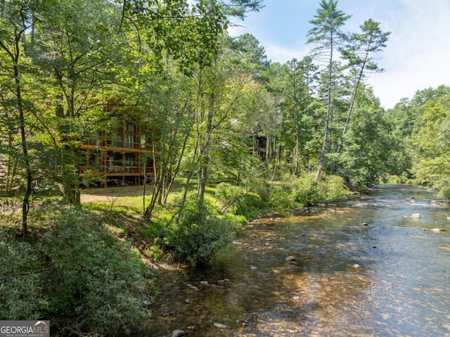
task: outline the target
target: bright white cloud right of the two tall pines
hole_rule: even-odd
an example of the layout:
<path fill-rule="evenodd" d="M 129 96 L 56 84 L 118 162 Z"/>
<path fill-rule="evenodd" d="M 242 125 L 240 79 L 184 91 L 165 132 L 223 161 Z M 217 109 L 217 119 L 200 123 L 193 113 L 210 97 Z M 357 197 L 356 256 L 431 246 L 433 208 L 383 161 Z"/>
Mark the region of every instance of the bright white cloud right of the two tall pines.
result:
<path fill-rule="evenodd" d="M 387 18 L 392 30 L 383 60 L 386 72 L 370 83 L 386 108 L 416 91 L 450 84 L 450 2 L 404 0 L 401 16 Z"/>

